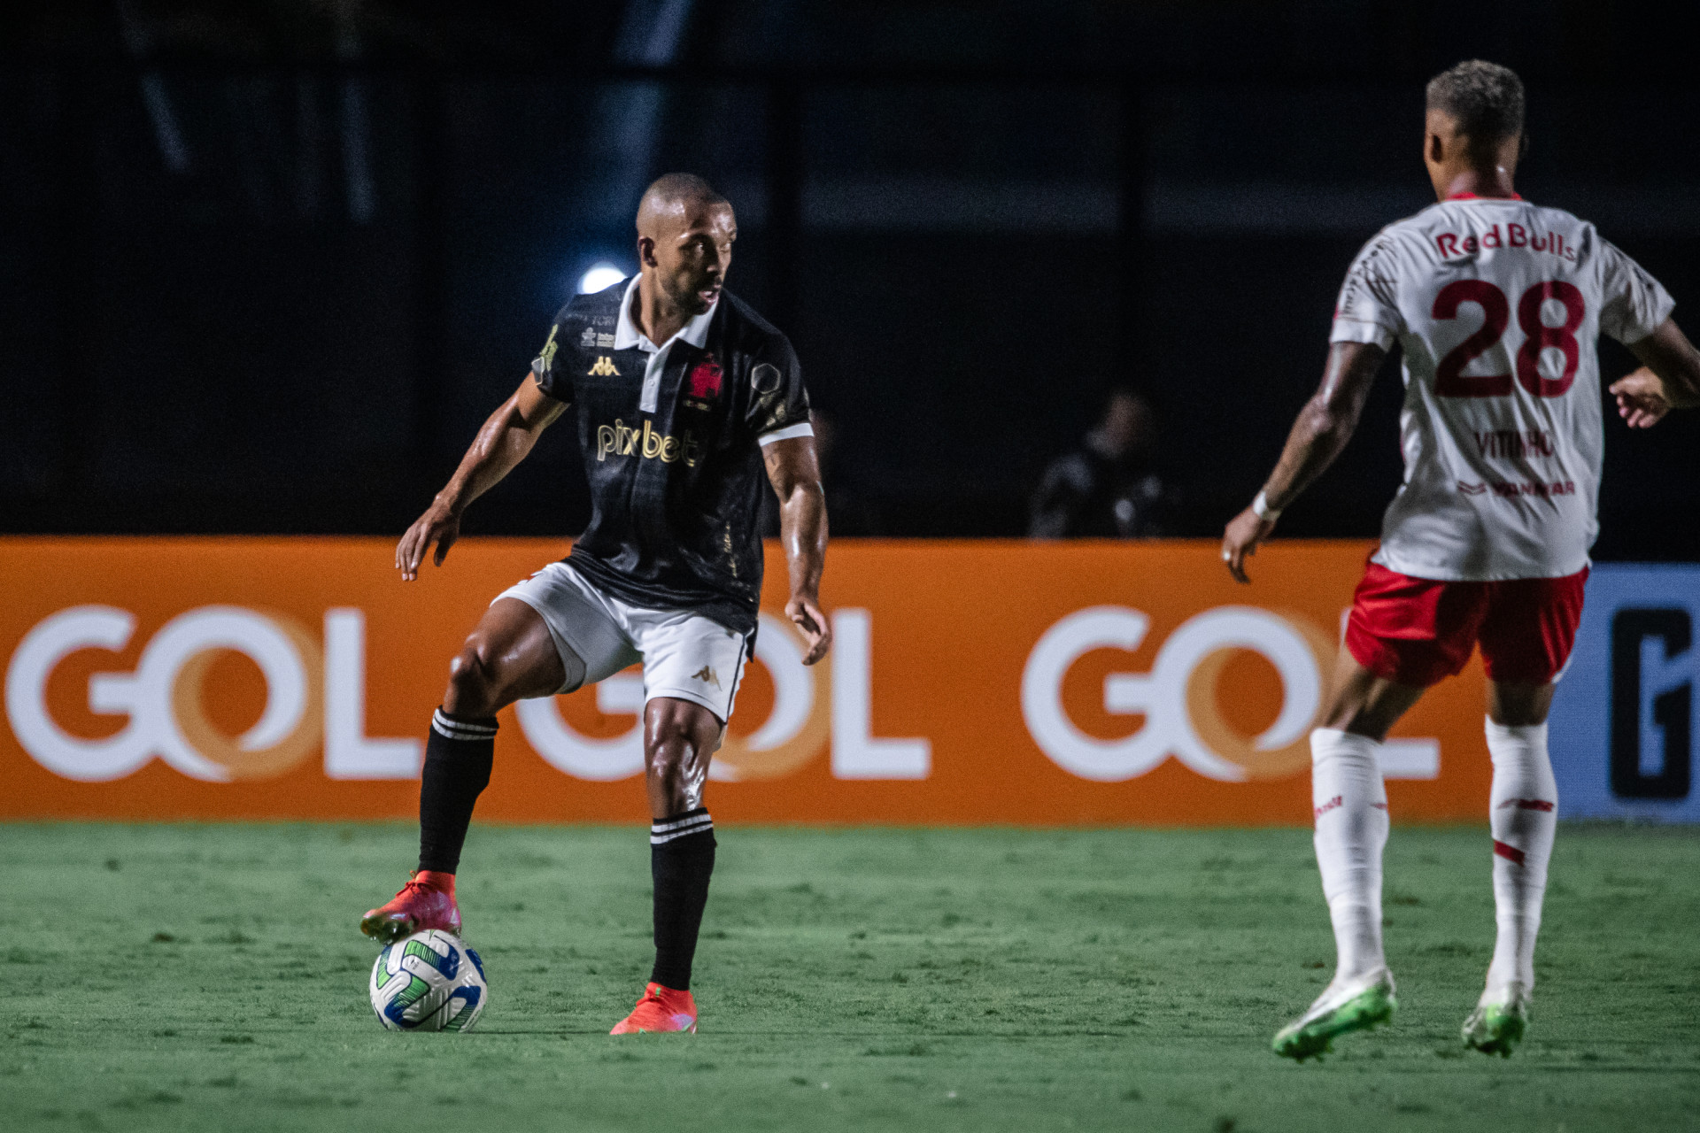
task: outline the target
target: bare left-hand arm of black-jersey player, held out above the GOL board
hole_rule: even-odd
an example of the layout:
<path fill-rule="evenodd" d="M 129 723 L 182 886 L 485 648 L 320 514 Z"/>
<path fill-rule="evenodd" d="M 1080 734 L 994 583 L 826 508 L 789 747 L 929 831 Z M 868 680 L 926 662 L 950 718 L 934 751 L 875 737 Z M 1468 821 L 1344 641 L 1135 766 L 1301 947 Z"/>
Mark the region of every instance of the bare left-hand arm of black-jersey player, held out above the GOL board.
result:
<path fill-rule="evenodd" d="M 425 561 L 432 544 L 437 544 L 432 562 L 442 566 L 449 547 L 461 537 L 461 513 L 466 511 L 466 504 L 512 472 L 563 409 L 566 409 L 564 401 L 556 401 L 537 387 L 536 374 L 525 375 L 513 396 L 503 401 L 478 430 L 473 447 L 461 457 L 461 467 L 449 477 L 449 486 L 437 493 L 425 515 L 413 520 L 413 527 L 396 544 L 396 569 L 405 581 L 418 578 L 420 562 Z"/>

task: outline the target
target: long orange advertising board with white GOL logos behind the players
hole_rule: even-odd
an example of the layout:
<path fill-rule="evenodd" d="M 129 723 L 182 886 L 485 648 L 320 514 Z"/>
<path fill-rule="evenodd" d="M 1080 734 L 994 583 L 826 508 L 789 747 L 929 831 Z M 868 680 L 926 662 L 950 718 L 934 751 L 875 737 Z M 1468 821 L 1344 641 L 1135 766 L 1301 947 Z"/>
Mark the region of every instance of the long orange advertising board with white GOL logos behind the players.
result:
<path fill-rule="evenodd" d="M 5 538 L 0 817 L 416 812 L 449 657 L 559 540 Z M 1309 824 L 1309 746 L 1362 542 L 838 542 L 806 669 L 768 547 L 707 803 L 733 822 Z M 478 817 L 644 820 L 634 673 L 502 713 Z M 1477 817 L 1472 662 L 1386 747 L 1396 820 Z"/>

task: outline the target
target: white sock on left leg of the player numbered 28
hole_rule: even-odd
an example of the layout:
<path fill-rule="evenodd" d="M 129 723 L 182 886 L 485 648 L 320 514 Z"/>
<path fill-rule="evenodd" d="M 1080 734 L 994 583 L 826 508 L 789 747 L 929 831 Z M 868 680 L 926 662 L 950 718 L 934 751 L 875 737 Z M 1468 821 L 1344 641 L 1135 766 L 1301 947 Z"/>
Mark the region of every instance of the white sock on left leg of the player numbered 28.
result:
<path fill-rule="evenodd" d="M 1336 980 L 1384 967 L 1380 856 L 1387 846 L 1387 790 L 1368 736 L 1319 727 L 1311 732 L 1311 805 L 1316 865 L 1334 922 Z"/>

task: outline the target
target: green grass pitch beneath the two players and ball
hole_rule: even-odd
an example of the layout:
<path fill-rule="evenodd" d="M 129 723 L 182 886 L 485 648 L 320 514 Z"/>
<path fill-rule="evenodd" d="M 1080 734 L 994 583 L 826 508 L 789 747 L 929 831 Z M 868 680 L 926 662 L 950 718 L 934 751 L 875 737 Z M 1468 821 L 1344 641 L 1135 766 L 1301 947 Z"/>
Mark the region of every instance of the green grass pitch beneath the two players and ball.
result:
<path fill-rule="evenodd" d="M 1678 1130 L 1700 1125 L 1700 837 L 1564 827 L 1527 1045 L 1457 1029 L 1486 829 L 1396 829 L 1401 1014 L 1268 1050 L 1333 960 L 1306 831 L 719 831 L 702 1033 L 607 1036 L 644 831 L 479 827 L 490 1009 L 389 1034 L 360 910 L 406 826 L 0 826 L 7 1130 Z"/>

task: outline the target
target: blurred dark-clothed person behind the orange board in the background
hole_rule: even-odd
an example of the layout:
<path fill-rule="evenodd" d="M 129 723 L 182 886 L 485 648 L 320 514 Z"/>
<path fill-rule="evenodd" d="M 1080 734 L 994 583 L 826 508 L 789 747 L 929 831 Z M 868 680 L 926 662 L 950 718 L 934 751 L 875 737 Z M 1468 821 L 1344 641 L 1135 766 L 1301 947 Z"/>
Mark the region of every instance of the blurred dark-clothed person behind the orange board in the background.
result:
<path fill-rule="evenodd" d="M 1173 491 L 1156 469 L 1156 414 L 1141 394 L 1119 387 L 1080 448 L 1046 469 L 1027 533 L 1154 538 L 1166 533 L 1171 511 Z"/>

